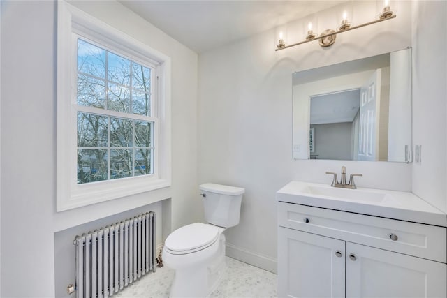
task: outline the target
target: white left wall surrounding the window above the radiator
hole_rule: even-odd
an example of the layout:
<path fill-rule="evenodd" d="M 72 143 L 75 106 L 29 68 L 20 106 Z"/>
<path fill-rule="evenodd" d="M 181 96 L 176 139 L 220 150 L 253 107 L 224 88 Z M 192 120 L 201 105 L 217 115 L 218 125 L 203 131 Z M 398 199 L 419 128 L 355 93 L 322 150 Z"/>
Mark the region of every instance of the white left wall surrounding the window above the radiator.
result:
<path fill-rule="evenodd" d="M 56 213 L 57 2 L 1 1 L 1 297 L 54 297 L 55 287 L 66 287 L 54 284 L 54 265 L 73 257 L 55 255 L 54 232 L 168 197 L 166 225 L 203 217 L 197 54 L 115 1 L 74 5 L 171 57 L 172 187 Z"/>

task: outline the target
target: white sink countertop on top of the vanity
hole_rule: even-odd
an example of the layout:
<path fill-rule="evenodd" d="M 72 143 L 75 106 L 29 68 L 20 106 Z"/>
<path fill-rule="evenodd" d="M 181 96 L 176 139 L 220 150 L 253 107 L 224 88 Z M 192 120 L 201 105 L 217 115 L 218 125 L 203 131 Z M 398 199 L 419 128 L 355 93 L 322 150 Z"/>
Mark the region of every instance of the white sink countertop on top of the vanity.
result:
<path fill-rule="evenodd" d="M 444 212 L 405 191 L 334 188 L 326 184 L 291 181 L 277 191 L 277 200 L 447 227 Z"/>

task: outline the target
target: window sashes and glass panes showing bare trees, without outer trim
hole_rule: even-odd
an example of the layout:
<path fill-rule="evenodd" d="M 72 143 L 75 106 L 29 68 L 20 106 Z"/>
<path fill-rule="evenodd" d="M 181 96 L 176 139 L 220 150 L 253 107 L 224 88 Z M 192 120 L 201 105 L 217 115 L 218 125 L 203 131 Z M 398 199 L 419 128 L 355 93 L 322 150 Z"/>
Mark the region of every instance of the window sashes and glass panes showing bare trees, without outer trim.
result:
<path fill-rule="evenodd" d="M 78 38 L 78 184 L 153 174 L 153 69 Z"/>

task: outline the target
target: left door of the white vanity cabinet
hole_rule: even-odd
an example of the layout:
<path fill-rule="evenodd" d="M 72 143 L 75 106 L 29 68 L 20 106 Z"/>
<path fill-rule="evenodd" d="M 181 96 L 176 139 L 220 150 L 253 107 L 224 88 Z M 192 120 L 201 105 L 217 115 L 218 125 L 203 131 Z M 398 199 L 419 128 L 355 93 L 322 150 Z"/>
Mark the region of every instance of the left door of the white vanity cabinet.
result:
<path fill-rule="evenodd" d="M 344 297 L 345 242 L 279 227 L 278 297 Z"/>

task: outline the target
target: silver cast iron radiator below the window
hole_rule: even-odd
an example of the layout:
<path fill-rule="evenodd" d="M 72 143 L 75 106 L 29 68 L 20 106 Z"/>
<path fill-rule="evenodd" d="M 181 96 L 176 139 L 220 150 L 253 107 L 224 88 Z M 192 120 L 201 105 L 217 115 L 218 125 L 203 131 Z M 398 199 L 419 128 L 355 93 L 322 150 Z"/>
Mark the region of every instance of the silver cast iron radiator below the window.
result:
<path fill-rule="evenodd" d="M 76 236 L 76 297 L 109 297 L 156 269 L 155 213 Z"/>

